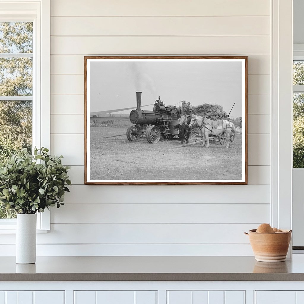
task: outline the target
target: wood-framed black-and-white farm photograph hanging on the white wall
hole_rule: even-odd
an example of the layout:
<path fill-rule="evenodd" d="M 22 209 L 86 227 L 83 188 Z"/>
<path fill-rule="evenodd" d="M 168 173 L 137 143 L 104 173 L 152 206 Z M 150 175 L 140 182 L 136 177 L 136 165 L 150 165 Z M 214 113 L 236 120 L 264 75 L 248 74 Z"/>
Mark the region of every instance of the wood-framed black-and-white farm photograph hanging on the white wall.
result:
<path fill-rule="evenodd" d="M 247 56 L 84 59 L 85 184 L 247 185 Z"/>

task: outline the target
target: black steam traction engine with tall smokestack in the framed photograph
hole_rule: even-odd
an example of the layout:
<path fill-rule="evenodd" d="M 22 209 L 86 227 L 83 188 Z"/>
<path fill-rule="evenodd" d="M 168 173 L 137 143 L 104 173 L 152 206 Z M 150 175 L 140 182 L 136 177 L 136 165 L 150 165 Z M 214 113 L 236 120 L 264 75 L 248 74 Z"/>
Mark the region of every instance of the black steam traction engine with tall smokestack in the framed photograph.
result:
<path fill-rule="evenodd" d="M 159 139 L 172 139 L 178 135 L 179 118 L 181 110 L 176 106 L 167 106 L 161 102 L 161 98 L 154 103 L 153 111 L 140 109 L 141 92 L 136 92 L 136 110 L 130 113 L 130 122 L 133 126 L 127 129 L 127 138 L 136 141 L 146 135 L 148 143 L 157 143 Z"/>

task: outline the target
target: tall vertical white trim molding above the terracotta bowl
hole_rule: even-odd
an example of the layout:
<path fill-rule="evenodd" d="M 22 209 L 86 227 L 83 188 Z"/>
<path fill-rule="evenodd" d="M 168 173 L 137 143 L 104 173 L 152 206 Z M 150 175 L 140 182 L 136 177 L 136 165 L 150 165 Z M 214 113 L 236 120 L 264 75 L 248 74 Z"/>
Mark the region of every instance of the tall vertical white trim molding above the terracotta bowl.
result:
<path fill-rule="evenodd" d="M 292 0 L 272 1 L 271 223 L 292 228 Z"/>

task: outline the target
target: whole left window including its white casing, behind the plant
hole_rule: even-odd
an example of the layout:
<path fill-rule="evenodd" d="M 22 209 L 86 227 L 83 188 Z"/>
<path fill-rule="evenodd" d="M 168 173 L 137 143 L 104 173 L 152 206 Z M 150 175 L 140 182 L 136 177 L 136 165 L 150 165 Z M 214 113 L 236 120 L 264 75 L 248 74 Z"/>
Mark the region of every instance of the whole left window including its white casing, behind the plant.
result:
<path fill-rule="evenodd" d="M 0 0 L 0 161 L 26 147 L 50 147 L 50 0 Z M 15 214 L 0 204 L 0 233 Z M 50 229 L 39 213 L 37 229 Z"/>

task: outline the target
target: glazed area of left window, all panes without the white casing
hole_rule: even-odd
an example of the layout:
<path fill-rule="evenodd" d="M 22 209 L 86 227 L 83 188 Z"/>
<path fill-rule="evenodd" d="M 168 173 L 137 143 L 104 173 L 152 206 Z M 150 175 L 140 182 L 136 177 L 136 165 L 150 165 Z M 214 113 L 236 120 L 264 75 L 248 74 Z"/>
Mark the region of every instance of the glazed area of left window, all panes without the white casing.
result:
<path fill-rule="evenodd" d="M 0 23 L 0 161 L 32 151 L 33 22 Z M 12 219 L 0 203 L 0 219 Z"/>

